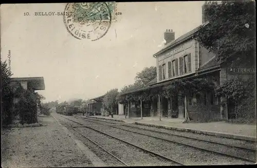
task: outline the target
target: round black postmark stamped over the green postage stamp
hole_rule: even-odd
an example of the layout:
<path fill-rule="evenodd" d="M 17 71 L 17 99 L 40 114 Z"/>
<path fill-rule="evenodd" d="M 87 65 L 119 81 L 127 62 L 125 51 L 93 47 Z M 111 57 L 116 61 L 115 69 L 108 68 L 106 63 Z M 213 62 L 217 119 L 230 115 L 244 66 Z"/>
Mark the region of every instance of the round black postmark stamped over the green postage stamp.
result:
<path fill-rule="evenodd" d="M 100 3 L 68 3 L 64 10 L 64 24 L 74 38 L 96 41 L 108 31 L 112 14 L 108 5 Z"/>

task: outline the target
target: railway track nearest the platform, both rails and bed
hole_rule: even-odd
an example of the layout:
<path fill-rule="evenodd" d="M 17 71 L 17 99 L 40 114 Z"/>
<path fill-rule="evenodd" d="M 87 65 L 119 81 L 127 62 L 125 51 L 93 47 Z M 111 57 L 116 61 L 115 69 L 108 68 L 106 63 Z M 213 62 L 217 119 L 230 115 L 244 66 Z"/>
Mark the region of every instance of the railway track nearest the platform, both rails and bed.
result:
<path fill-rule="evenodd" d="M 81 117 L 78 117 L 78 118 L 81 118 Z M 81 118 L 81 119 L 86 120 L 86 121 L 90 121 L 90 122 L 95 122 L 95 123 L 102 124 L 102 125 L 106 125 L 106 124 L 99 123 L 99 122 L 112 123 L 112 124 L 117 125 L 117 122 L 113 123 L 113 122 L 99 121 L 97 119 L 89 119 L 89 118 Z M 224 143 L 217 143 L 217 142 L 212 142 L 212 141 L 207 141 L 207 140 L 200 140 L 200 139 L 192 138 L 192 137 L 179 136 L 179 135 L 170 134 L 170 133 L 163 133 L 163 132 L 159 132 L 157 130 L 139 128 L 137 126 L 131 126 L 131 125 L 127 125 L 127 124 L 119 124 L 117 126 L 115 126 L 115 125 L 107 125 L 107 126 L 122 129 L 122 130 L 125 130 L 127 132 L 132 132 L 132 133 L 136 133 L 136 134 L 140 134 L 140 135 L 144 135 L 144 136 L 153 137 L 153 138 L 156 138 L 156 139 L 161 139 L 161 140 L 165 140 L 165 141 L 169 141 L 169 142 L 173 142 L 173 143 L 178 143 L 178 144 L 181 144 L 181 145 L 186 145 L 186 146 L 198 148 L 200 150 L 204 150 L 204 151 L 208 151 L 208 152 L 214 152 L 214 153 L 217 153 L 217 154 L 225 155 L 225 156 L 228 156 L 228 157 L 233 157 L 233 158 L 236 158 L 236 159 L 242 159 L 242 160 L 250 161 L 250 162 L 254 162 L 254 163 L 256 162 L 256 149 L 249 148 L 249 147 L 242 147 L 242 146 L 236 146 L 236 145 L 230 145 L 230 144 L 224 144 Z M 120 126 L 129 127 L 129 129 L 124 129 Z M 138 131 L 135 131 L 135 130 L 130 130 L 130 129 L 140 130 L 141 133 L 138 132 Z M 146 132 L 146 134 L 145 134 L 145 132 Z M 148 134 L 147 134 L 147 132 L 148 132 Z M 150 132 L 152 132 L 152 133 L 150 133 Z M 155 133 L 157 136 L 152 136 L 153 133 Z M 179 141 L 178 140 L 170 140 L 169 137 L 167 139 L 164 139 L 164 138 L 160 138 L 160 136 L 158 136 L 158 135 L 176 136 L 176 137 L 179 137 L 180 140 Z M 199 141 L 199 142 L 205 142 L 205 143 L 208 143 L 210 147 L 209 148 L 204 148 L 204 147 L 201 147 L 201 145 L 199 145 L 197 143 L 193 143 L 194 145 L 192 145 L 192 143 L 191 144 L 185 143 L 185 139 L 191 139 L 191 140 L 195 140 L 195 141 Z M 216 148 L 216 150 L 214 150 L 211 147 L 212 145 L 216 145 L 216 146 L 219 145 L 220 146 L 218 148 L 219 151 L 217 150 L 217 148 Z M 225 147 L 227 148 L 227 150 L 225 150 Z M 241 152 L 238 151 L 238 150 L 241 150 Z M 224 152 L 222 152 L 222 151 L 224 151 Z M 244 155 L 244 154 L 247 154 L 247 155 Z"/>

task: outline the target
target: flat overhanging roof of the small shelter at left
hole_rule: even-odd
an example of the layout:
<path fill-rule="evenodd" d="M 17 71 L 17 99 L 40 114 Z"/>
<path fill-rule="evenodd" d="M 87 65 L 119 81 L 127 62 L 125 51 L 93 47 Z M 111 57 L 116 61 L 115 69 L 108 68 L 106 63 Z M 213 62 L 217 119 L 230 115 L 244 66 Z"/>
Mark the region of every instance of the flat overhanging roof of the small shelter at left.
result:
<path fill-rule="evenodd" d="M 28 88 L 35 90 L 45 90 L 44 77 L 30 77 L 30 78 L 11 78 L 11 82 L 27 81 Z"/>

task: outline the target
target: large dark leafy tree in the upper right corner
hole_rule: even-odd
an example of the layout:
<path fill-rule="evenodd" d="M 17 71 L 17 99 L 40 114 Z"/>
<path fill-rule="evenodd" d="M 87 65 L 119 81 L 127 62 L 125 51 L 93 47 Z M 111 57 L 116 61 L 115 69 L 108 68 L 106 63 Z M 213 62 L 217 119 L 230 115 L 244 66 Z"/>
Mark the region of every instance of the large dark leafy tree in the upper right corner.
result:
<path fill-rule="evenodd" d="M 222 1 L 207 6 L 209 24 L 197 32 L 201 45 L 216 53 L 221 63 L 230 66 L 255 63 L 255 2 Z"/>

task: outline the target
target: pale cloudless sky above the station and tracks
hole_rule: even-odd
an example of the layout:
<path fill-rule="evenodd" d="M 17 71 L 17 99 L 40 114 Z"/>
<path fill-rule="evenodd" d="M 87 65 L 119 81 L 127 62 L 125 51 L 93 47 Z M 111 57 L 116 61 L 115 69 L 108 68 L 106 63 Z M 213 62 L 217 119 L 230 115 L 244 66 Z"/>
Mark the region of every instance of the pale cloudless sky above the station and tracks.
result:
<path fill-rule="evenodd" d="M 116 17 L 103 38 L 78 40 L 66 29 L 66 4 L 1 5 L 1 60 L 8 60 L 15 77 L 44 77 L 44 102 L 91 99 L 108 90 L 133 84 L 136 73 L 156 66 L 153 54 L 163 44 L 163 32 L 175 39 L 201 24 L 204 2 L 117 3 Z M 24 15 L 29 12 L 30 15 Z"/>

